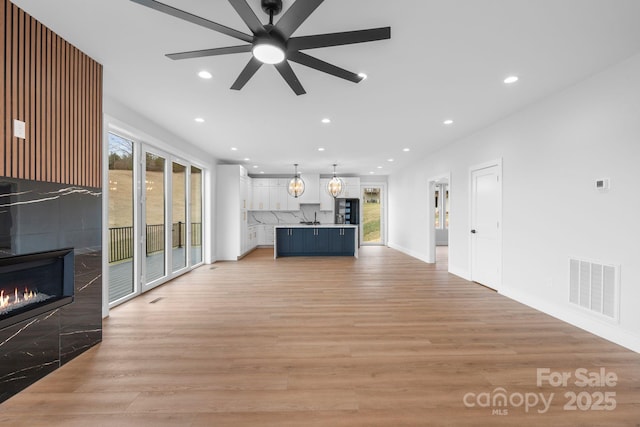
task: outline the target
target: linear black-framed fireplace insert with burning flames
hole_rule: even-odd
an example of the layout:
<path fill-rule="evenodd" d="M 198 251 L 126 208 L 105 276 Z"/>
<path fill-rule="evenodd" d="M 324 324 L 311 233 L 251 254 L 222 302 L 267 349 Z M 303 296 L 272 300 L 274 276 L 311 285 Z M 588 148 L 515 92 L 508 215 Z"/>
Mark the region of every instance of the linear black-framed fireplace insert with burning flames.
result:
<path fill-rule="evenodd" d="M 0 258 L 0 329 L 73 302 L 73 249 Z"/>

